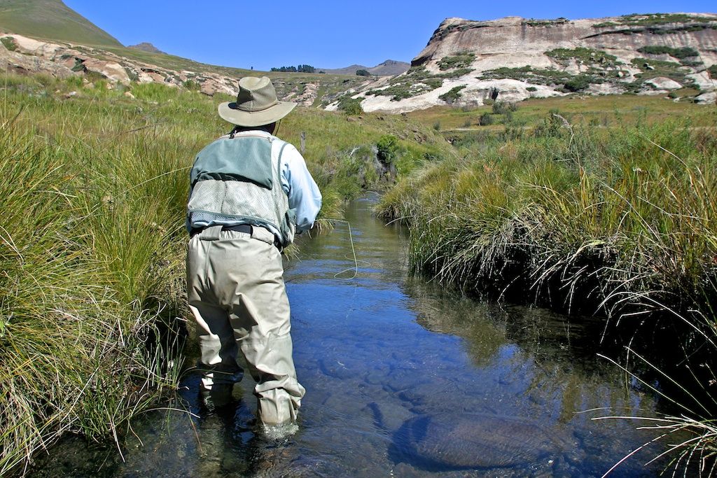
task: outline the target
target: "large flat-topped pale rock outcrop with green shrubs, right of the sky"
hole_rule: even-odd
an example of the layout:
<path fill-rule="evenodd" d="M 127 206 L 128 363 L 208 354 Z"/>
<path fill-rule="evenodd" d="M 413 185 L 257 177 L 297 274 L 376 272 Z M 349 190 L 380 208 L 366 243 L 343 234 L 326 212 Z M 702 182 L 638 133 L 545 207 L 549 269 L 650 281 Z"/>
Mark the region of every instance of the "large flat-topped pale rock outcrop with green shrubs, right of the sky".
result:
<path fill-rule="evenodd" d="M 365 111 L 393 113 L 571 93 L 715 102 L 716 64 L 717 14 L 449 18 L 407 73 L 376 80 L 351 96 Z"/>

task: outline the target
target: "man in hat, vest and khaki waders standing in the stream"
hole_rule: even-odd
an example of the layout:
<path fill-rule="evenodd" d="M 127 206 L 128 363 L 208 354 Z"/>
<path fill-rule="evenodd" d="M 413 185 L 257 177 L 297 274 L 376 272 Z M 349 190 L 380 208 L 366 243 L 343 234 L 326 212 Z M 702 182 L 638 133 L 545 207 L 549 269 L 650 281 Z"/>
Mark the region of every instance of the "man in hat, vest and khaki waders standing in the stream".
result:
<path fill-rule="evenodd" d="M 235 125 L 191 168 L 186 259 L 189 308 L 199 325 L 201 398 L 227 405 L 243 376 L 241 350 L 265 426 L 292 425 L 305 390 L 292 359 L 281 251 L 308 231 L 321 193 L 293 145 L 273 135 L 295 103 L 277 100 L 267 77 L 239 81 L 237 101 L 219 105 Z"/>

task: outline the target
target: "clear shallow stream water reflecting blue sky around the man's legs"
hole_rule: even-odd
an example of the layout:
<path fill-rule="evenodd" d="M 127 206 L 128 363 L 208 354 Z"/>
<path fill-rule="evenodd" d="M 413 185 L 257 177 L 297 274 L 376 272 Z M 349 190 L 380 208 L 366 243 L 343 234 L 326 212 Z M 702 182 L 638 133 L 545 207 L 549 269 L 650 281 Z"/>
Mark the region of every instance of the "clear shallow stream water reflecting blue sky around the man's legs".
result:
<path fill-rule="evenodd" d="M 68 439 L 34 476 L 528 477 L 600 476 L 649 441 L 634 422 L 653 399 L 596 358 L 602 325 L 545 310 L 475 302 L 407 277 L 405 238 L 371 218 L 302 244 L 289 264 L 295 363 L 307 388 L 300 430 L 270 441 L 255 423 L 253 383 L 207 414 L 188 373 L 178 411 L 133 423 L 123 444 Z M 343 272 L 342 272 L 343 271 Z M 653 476 L 653 447 L 614 476 Z"/>

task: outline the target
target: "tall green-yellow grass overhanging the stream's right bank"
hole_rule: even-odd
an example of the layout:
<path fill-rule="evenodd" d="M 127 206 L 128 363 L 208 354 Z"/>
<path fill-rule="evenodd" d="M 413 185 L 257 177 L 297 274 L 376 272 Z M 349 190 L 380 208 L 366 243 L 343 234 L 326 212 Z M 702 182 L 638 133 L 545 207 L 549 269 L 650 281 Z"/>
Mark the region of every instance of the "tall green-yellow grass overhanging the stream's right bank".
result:
<path fill-rule="evenodd" d="M 708 357 L 678 388 L 690 403 L 685 418 L 711 424 L 714 130 L 675 122 L 574 128 L 551 115 L 532 132 L 459 145 L 460 159 L 405 178 L 379 205 L 379 214 L 408 224 L 414 269 L 464 290 L 567 312 L 633 322 L 671 317 L 692 338 L 660 355 L 691 365 L 693 355 Z M 714 449 L 714 436 L 708 440 Z"/>

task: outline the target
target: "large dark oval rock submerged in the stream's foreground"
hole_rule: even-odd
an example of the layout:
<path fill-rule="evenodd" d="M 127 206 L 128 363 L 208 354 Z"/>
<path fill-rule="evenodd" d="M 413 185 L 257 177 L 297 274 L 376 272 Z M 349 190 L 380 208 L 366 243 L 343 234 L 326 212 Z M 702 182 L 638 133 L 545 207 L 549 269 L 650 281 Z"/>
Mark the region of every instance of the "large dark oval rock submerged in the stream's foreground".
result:
<path fill-rule="evenodd" d="M 531 421 L 490 414 L 417 416 L 394 440 L 394 458 L 424 469 L 491 469 L 549 465 L 560 440 Z"/>

